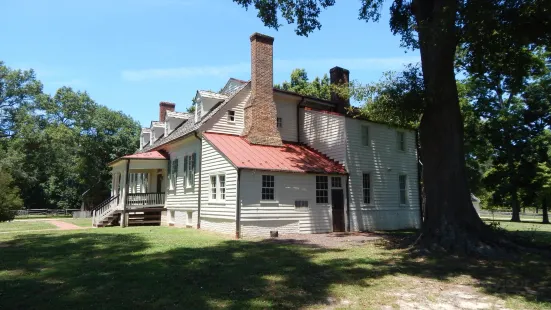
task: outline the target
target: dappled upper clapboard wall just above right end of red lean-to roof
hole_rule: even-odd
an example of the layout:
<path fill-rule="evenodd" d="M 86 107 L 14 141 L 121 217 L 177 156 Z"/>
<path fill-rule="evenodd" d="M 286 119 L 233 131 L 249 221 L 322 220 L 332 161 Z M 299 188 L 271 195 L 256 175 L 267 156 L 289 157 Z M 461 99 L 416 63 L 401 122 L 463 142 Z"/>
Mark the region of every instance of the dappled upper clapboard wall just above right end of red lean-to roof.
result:
<path fill-rule="evenodd" d="M 300 109 L 300 142 L 342 164 L 346 161 L 345 118 L 342 115 Z"/>

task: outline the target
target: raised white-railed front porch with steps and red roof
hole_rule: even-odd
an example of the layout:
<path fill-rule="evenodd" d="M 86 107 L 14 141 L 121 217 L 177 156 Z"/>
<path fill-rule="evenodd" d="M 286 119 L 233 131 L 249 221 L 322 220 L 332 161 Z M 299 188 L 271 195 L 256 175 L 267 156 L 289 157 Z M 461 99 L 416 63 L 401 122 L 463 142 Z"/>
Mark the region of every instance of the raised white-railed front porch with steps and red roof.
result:
<path fill-rule="evenodd" d="M 165 210 L 167 157 L 154 151 L 111 162 L 111 197 L 92 211 L 93 225 L 160 225 Z"/>

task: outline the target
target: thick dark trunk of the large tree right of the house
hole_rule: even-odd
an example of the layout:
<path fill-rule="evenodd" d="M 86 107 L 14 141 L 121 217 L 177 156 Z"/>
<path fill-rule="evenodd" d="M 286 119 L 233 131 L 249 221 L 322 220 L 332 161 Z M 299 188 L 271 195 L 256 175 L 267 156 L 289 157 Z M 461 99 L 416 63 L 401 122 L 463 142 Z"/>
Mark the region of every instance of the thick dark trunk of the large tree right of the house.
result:
<path fill-rule="evenodd" d="M 454 72 L 457 3 L 416 0 L 413 10 L 427 90 L 419 128 L 426 206 L 418 242 L 445 251 L 477 252 L 485 226 L 472 205 L 467 183 Z"/>

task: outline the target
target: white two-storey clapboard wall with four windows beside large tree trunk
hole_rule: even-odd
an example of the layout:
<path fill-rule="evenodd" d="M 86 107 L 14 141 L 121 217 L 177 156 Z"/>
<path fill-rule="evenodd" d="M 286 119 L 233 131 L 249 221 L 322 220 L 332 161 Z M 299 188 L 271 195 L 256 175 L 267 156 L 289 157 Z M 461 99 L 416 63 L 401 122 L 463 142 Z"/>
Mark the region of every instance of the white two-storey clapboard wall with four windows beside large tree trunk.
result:
<path fill-rule="evenodd" d="M 369 127 L 369 146 L 361 141 L 361 126 Z M 405 132 L 406 150 L 398 150 L 397 129 L 346 118 L 350 173 L 351 230 L 395 230 L 420 226 L 415 132 Z M 363 203 L 363 173 L 371 174 L 372 203 Z M 400 205 L 399 175 L 407 175 L 407 205 Z"/>

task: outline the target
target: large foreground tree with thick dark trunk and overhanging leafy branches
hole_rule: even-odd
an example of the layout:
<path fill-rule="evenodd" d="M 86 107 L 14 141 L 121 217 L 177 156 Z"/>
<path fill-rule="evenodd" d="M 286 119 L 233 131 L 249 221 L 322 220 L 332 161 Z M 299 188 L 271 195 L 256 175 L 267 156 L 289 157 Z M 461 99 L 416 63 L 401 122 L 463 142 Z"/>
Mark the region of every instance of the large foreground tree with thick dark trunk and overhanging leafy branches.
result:
<path fill-rule="evenodd" d="M 335 0 L 234 2 L 245 8 L 254 6 L 266 26 L 278 29 L 280 16 L 296 23 L 298 35 L 320 29 L 321 9 L 335 4 Z M 378 21 L 384 2 L 362 1 L 359 18 Z M 425 85 L 426 107 L 419 130 L 426 216 L 419 243 L 480 253 L 481 244 L 496 241 L 476 214 L 467 185 L 464 126 L 454 72 L 456 52 L 461 47 L 470 68 L 483 68 L 496 51 L 507 50 L 506 59 L 514 60 L 512 74 L 522 80 L 529 68 L 516 60 L 525 57 L 532 46 L 551 42 L 550 10 L 547 0 L 392 1 L 390 28 L 401 35 L 404 46 L 420 50 Z"/>

